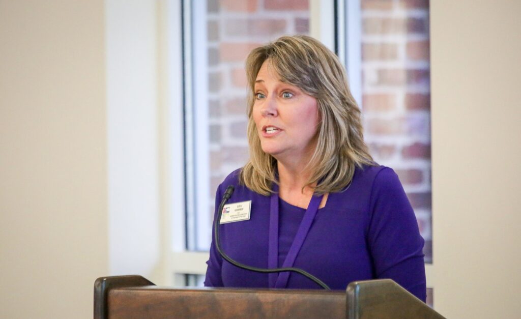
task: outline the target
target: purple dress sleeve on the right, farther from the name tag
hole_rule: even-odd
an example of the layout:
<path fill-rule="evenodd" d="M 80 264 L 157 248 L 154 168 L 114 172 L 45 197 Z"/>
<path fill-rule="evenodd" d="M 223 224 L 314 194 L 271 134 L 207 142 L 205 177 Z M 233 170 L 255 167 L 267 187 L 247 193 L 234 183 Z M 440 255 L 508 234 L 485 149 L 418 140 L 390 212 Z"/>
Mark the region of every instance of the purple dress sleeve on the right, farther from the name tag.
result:
<path fill-rule="evenodd" d="M 375 178 L 370 198 L 368 246 L 375 277 L 390 278 L 426 300 L 423 246 L 413 208 L 390 168 Z"/>

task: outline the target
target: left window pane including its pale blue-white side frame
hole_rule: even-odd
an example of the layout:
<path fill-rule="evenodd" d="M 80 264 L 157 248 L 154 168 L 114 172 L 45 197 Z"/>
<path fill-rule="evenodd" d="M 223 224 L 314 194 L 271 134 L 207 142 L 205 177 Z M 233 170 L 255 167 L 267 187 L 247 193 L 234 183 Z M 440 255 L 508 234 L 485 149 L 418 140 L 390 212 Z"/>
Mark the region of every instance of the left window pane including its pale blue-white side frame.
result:
<path fill-rule="evenodd" d="M 192 1 L 187 114 L 187 248 L 208 250 L 215 191 L 248 156 L 244 60 L 252 48 L 309 33 L 308 0 Z M 186 42 L 186 41 L 185 41 Z M 187 52 L 187 51 L 185 51 Z M 185 107 L 189 107 L 186 103 Z"/>

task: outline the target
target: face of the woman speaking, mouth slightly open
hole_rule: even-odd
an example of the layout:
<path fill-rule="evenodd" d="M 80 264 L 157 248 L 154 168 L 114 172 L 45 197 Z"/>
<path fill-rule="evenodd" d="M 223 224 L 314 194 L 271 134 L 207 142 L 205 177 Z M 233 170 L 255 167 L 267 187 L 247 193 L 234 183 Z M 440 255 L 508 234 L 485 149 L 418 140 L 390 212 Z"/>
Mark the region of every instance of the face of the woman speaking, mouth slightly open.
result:
<path fill-rule="evenodd" d="M 269 61 L 257 74 L 254 93 L 252 116 L 263 151 L 279 161 L 311 157 L 317 143 L 317 100 L 281 82 Z"/>

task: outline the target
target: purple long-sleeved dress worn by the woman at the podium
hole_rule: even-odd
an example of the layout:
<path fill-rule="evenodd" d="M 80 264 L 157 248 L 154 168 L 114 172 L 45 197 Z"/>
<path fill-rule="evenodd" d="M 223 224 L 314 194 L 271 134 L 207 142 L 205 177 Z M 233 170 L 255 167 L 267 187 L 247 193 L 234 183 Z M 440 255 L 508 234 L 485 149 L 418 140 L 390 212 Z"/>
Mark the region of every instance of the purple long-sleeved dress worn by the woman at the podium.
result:
<path fill-rule="evenodd" d="M 221 247 L 240 263 L 269 268 L 270 197 L 239 185 L 238 178 L 239 170 L 235 170 L 221 183 L 216 207 L 226 187 L 233 185 L 235 191 L 228 203 L 251 200 L 251 217 L 220 225 Z M 281 267 L 306 210 L 280 199 L 278 208 L 278 267 Z M 416 217 L 398 176 L 388 167 L 366 166 L 356 169 L 347 189 L 329 194 L 326 206 L 313 219 L 293 267 L 318 277 L 331 289 L 345 290 L 356 280 L 390 278 L 425 302 L 423 246 Z M 207 264 L 205 286 L 275 287 L 268 274 L 223 262 L 213 241 Z M 320 287 L 300 274 L 291 273 L 281 288 Z"/>

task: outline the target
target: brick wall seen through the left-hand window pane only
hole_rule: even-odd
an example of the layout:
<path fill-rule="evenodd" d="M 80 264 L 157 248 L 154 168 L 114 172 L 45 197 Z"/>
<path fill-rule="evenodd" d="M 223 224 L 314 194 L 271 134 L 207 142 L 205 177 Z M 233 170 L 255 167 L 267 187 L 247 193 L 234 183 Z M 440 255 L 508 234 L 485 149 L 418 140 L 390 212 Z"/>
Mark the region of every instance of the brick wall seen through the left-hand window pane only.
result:
<path fill-rule="evenodd" d="M 247 160 L 246 56 L 279 36 L 309 34 L 308 7 L 308 0 L 207 0 L 210 194 Z"/>

